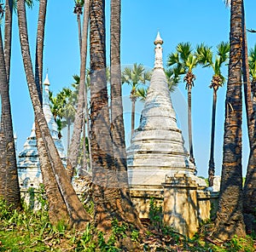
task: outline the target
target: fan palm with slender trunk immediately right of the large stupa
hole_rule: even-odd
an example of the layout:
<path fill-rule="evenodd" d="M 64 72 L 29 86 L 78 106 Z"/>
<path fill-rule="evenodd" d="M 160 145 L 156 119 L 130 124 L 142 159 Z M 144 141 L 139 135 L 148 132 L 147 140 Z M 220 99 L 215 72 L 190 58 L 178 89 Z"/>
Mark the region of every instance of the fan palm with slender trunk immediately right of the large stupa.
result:
<path fill-rule="evenodd" d="M 197 59 L 193 54 L 190 43 L 178 43 L 177 52 L 168 56 L 167 66 L 176 67 L 175 70 L 185 74 L 183 81 L 188 90 L 188 128 L 189 128 L 189 160 L 195 164 L 193 144 L 192 144 L 192 123 L 191 123 L 191 89 L 194 87 L 195 75 L 192 72 L 197 66 Z"/>

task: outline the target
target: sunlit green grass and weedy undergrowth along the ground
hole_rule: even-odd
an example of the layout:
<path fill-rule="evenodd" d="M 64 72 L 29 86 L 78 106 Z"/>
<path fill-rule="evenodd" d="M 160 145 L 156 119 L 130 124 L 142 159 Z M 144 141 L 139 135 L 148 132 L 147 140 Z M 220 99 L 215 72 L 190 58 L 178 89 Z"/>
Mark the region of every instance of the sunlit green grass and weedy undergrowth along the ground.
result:
<path fill-rule="evenodd" d="M 11 210 L 0 200 L 0 251 L 255 251 L 255 243 L 250 237 L 234 237 L 219 245 L 207 241 L 210 221 L 201 226 L 194 238 L 184 237 L 164 225 L 162 209 L 154 199 L 150 200 L 149 218 L 143 220 L 143 233 L 117 220 L 112 222 L 108 236 L 91 224 L 83 232 L 67 230 L 61 223 L 56 226 L 49 223 L 47 201 L 42 193 L 35 195 L 41 206 L 37 211 L 26 204 L 23 210 Z M 127 249 L 127 242 L 131 243 L 131 249 Z"/>

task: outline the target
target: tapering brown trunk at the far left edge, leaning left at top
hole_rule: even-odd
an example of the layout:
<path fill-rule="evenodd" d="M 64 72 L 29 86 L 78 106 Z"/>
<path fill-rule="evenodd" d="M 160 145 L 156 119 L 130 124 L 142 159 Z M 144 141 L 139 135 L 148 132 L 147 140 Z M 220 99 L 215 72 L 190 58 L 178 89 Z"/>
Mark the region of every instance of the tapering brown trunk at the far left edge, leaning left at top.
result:
<path fill-rule="evenodd" d="M 3 197 L 12 209 L 20 208 L 20 187 L 17 173 L 15 140 L 9 100 L 9 83 L 6 72 L 3 40 L 0 27 L 0 197 Z"/>

